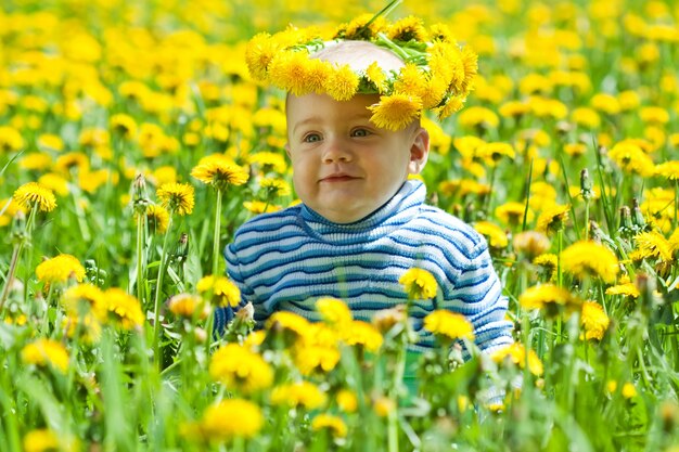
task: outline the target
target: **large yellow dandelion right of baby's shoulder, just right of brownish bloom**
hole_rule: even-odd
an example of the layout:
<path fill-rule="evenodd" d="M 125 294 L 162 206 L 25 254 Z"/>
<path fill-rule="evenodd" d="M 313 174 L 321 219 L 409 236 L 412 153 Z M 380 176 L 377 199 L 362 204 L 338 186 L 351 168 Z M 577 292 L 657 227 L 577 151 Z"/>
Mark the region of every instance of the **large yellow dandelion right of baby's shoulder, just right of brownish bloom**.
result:
<path fill-rule="evenodd" d="M 561 253 L 561 263 L 565 272 L 577 277 L 593 275 L 606 283 L 615 281 L 618 260 L 615 254 L 594 242 L 580 241 Z"/>

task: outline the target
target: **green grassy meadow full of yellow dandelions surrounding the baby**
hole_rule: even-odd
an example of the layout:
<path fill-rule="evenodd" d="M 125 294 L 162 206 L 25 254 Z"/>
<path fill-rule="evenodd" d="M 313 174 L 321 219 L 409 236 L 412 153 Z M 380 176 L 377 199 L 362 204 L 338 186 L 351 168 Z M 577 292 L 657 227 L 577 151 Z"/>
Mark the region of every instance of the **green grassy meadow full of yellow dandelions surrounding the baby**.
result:
<path fill-rule="evenodd" d="M 239 299 L 223 247 L 296 202 L 284 93 L 247 41 L 385 3 L 3 3 L 0 450 L 679 450 L 672 1 L 389 13 L 478 54 L 464 108 L 423 119 L 422 180 L 486 236 L 513 346 L 482 353 L 433 312 L 412 395 L 407 307 L 368 323 L 321 298 L 322 322 L 242 311 L 209 334 Z M 403 290 L 431 297 L 420 276 Z"/>

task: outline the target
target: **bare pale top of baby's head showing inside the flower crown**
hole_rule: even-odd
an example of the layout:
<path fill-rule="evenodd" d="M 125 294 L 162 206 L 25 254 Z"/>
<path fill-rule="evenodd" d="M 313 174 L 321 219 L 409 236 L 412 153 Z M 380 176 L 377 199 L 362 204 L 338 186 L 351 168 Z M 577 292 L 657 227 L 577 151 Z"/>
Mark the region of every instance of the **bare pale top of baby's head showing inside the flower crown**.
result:
<path fill-rule="evenodd" d="M 354 72 L 366 72 L 368 66 L 377 63 L 384 72 L 398 72 L 405 63 L 396 54 L 368 41 L 338 41 L 328 43 L 311 55 L 337 65 L 348 64 Z"/>

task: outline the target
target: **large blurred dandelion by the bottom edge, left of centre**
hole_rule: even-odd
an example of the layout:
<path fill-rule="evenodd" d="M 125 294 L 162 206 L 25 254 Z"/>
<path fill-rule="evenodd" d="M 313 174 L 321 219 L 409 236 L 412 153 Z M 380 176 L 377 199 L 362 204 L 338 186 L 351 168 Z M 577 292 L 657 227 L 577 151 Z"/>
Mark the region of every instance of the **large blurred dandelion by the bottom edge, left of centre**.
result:
<path fill-rule="evenodd" d="M 201 431 L 213 440 L 253 438 L 261 430 L 264 422 L 257 404 L 243 399 L 226 399 L 205 410 Z"/>

